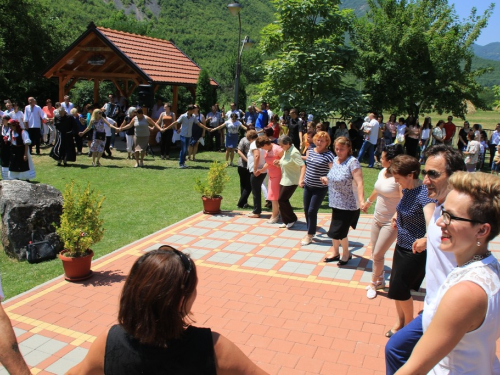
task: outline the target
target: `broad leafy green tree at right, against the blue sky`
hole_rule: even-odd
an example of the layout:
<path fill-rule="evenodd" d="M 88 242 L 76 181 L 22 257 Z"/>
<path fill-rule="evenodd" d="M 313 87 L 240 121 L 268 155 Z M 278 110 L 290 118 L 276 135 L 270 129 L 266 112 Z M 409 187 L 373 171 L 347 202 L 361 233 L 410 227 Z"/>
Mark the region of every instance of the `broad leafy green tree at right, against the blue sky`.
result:
<path fill-rule="evenodd" d="M 371 106 L 418 115 L 435 110 L 463 117 L 466 100 L 482 106 L 473 70 L 472 44 L 491 16 L 473 8 L 460 21 L 447 0 L 368 0 L 365 17 L 355 22 L 352 44 L 356 73 L 364 80 Z"/>

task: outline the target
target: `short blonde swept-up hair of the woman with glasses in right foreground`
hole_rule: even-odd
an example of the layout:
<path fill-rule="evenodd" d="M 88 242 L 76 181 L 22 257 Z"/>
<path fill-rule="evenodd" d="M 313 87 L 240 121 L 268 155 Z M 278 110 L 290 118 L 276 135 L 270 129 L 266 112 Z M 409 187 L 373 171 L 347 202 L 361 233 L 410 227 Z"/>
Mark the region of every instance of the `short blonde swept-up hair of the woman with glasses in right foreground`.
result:
<path fill-rule="evenodd" d="M 470 218 L 491 225 L 488 242 L 500 233 L 500 178 L 492 174 L 455 172 L 449 179 L 454 190 L 472 199 L 467 209 Z"/>

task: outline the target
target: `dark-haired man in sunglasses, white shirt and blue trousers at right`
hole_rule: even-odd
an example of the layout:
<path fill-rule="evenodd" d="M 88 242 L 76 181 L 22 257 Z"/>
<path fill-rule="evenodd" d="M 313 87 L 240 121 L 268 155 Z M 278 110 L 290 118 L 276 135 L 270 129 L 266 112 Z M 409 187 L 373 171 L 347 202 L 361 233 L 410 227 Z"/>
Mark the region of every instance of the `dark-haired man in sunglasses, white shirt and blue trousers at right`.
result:
<path fill-rule="evenodd" d="M 420 253 L 427 249 L 424 310 L 436 298 L 439 287 L 457 266 L 453 253 L 446 253 L 439 249 L 442 232 L 441 228 L 436 225 L 436 221 L 441 216 L 441 207 L 450 192 L 448 179 L 454 172 L 465 170 L 462 155 L 444 144 L 428 148 L 425 156 L 427 161 L 422 171 L 423 182 L 427 186 L 429 198 L 436 199 L 437 205 L 427 228 L 427 238 L 420 238 L 413 244 L 413 252 Z M 387 375 L 394 374 L 406 363 L 422 335 L 422 315 L 420 314 L 390 338 L 385 346 Z"/>

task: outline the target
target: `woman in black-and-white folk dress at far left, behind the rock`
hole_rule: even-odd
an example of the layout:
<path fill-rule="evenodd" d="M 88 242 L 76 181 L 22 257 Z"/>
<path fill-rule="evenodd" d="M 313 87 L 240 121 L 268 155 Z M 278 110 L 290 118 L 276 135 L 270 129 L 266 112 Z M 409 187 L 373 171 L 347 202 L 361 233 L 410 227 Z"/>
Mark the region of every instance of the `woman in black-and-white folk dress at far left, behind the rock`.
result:
<path fill-rule="evenodd" d="M 21 128 L 19 121 L 9 120 L 9 127 L 9 180 L 30 181 L 36 177 L 29 149 L 31 139 L 28 132 Z"/>

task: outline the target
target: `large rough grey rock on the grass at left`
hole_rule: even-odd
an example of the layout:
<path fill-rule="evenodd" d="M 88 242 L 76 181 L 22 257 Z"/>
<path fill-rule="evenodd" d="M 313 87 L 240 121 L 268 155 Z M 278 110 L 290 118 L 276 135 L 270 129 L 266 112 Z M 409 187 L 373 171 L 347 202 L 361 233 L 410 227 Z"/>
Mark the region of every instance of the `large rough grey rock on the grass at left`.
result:
<path fill-rule="evenodd" d="M 26 245 L 32 233 L 35 242 L 47 240 L 57 251 L 62 250 L 53 225 L 60 223 L 62 205 L 62 194 L 53 186 L 1 181 L 0 216 L 5 252 L 18 259 L 26 258 Z"/>

